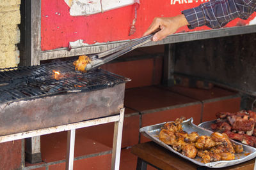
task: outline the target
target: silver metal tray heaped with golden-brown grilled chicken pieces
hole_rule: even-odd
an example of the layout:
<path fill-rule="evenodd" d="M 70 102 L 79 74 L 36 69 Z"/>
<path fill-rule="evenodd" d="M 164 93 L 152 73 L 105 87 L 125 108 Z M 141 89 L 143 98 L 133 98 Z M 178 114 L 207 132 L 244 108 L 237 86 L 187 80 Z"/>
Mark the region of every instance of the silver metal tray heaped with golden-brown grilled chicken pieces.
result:
<path fill-rule="evenodd" d="M 227 134 L 212 132 L 193 124 L 193 118 L 142 127 L 140 132 L 195 164 L 227 167 L 256 157 L 256 148 L 229 139 Z"/>

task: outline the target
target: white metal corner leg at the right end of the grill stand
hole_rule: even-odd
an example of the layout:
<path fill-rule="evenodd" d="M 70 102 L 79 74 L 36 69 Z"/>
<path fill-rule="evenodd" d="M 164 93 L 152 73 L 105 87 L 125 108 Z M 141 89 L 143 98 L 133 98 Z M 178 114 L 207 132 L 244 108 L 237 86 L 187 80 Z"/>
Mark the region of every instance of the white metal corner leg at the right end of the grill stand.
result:
<path fill-rule="evenodd" d="M 123 123 L 124 123 L 124 108 L 120 110 L 120 120 L 115 122 L 111 170 L 118 170 L 120 166 Z"/>

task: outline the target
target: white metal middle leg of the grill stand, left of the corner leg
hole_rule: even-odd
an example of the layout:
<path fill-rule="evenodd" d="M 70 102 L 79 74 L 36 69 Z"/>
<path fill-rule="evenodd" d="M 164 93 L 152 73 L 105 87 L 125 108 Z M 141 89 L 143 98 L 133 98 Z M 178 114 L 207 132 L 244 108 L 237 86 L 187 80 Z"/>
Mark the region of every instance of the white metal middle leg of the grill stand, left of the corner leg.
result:
<path fill-rule="evenodd" d="M 66 170 L 73 170 L 76 129 L 68 131 Z"/>

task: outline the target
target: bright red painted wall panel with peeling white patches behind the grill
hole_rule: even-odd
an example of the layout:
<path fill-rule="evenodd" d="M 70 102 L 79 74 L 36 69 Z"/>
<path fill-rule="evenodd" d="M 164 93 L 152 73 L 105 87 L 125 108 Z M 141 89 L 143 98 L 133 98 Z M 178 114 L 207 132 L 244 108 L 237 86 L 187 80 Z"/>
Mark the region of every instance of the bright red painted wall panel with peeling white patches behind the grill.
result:
<path fill-rule="evenodd" d="M 188 1 L 188 0 L 180 0 Z M 151 24 L 154 17 L 172 17 L 180 11 L 198 6 L 201 1 L 193 3 L 171 4 L 171 0 L 141 0 L 137 13 L 136 32 L 129 36 L 129 29 L 134 18 L 134 5 L 116 10 L 105 11 L 90 16 L 72 17 L 64 0 L 42 0 L 41 4 L 41 49 L 52 50 L 67 47 L 69 41 L 83 39 L 84 43 L 106 43 L 124 39 L 140 38 Z M 227 27 L 246 25 L 248 20 L 236 19 Z M 198 27 L 192 31 L 205 30 Z M 191 31 L 182 27 L 178 32 Z"/>

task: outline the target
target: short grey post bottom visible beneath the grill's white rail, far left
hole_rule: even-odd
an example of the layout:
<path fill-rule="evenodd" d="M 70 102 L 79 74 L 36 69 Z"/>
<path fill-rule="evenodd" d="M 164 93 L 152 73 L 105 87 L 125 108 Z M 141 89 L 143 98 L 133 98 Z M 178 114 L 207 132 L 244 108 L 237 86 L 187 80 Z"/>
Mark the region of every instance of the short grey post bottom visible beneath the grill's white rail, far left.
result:
<path fill-rule="evenodd" d="M 26 151 L 25 160 L 30 164 L 42 162 L 40 150 L 40 136 L 25 139 Z"/>

